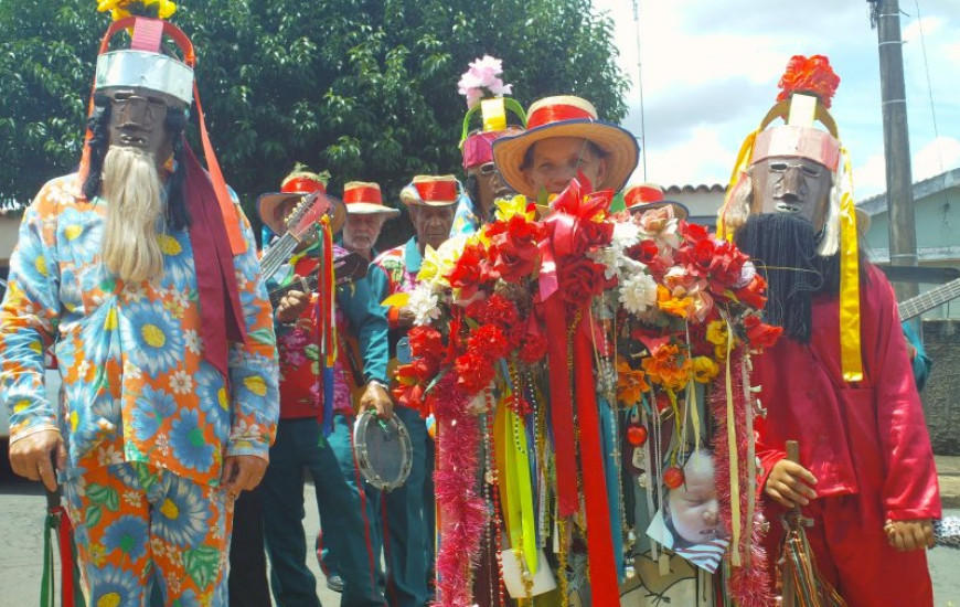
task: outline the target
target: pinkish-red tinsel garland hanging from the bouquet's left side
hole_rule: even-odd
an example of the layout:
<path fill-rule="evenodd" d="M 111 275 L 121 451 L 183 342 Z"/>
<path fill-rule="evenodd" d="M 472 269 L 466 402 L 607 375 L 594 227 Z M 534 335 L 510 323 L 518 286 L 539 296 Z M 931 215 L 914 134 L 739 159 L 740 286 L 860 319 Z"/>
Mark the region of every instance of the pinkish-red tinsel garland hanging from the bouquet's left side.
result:
<path fill-rule="evenodd" d="M 439 449 L 434 484 L 441 529 L 434 605 L 470 607 L 470 569 L 487 524 L 487 509 L 476 491 L 480 420 L 470 413 L 470 398 L 455 373 L 447 373 L 433 393 Z"/>

